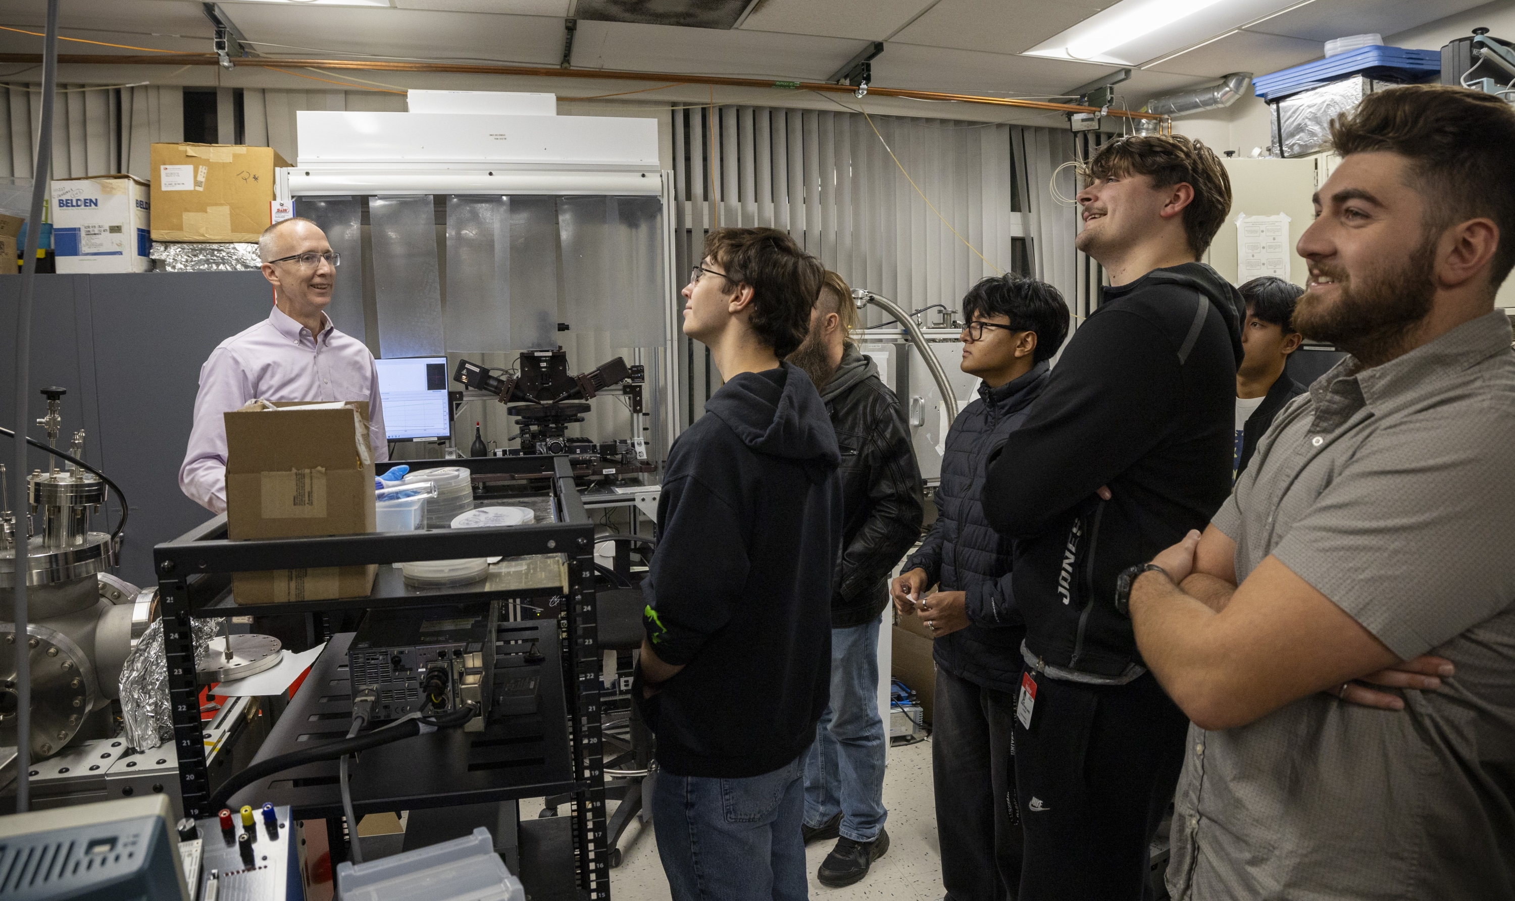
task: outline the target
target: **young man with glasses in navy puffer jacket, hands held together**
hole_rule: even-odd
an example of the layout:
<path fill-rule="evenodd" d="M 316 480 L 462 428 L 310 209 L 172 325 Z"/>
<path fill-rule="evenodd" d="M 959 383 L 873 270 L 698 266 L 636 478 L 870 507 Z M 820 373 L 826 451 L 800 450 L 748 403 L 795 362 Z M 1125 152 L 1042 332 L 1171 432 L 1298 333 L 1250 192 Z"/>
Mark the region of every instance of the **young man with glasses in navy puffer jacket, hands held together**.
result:
<path fill-rule="evenodd" d="M 941 516 L 891 592 L 900 613 L 918 610 L 935 636 L 932 772 L 947 899 L 1003 901 L 1017 896 L 1021 874 L 1011 719 L 1026 625 L 1011 586 L 1011 542 L 989 525 L 979 497 L 989 451 L 1047 386 L 1070 316 L 1056 288 L 1015 276 L 974 285 L 962 315 L 962 371 L 983 382 L 947 432 Z M 939 591 L 923 598 L 932 585 Z"/>

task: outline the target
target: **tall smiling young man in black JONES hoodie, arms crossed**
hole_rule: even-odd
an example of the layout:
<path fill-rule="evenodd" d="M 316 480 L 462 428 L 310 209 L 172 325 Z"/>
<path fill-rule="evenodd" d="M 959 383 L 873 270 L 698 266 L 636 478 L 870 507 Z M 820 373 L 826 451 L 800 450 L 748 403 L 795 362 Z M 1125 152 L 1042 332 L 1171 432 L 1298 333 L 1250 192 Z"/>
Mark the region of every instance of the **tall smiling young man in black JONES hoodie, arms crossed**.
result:
<path fill-rule="evenodd" d="M 1230 209 L 1226 168 L 1197 141 L 1132 136 L 1103 145 L 1086 182 L 1076 245 L 1110 285 L 983 489 L 1017 539 L 1026 616 L 1021 901 L 1142 896 L 1188 718 L 1147 672 L 1115 578 L 1203 528 L 1232 485 L 1244 307 L 1195 262 Z"/>

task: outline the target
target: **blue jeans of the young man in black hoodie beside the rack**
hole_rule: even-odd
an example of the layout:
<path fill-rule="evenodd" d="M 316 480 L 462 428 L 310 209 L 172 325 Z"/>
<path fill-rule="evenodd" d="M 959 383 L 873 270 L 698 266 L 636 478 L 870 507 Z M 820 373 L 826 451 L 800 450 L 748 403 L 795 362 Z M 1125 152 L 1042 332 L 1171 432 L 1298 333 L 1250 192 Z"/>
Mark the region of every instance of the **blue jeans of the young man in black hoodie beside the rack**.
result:
<path fill-rule="evenodd" d="M 673 901 L 804 901 L 800 759 L 764 775 L 653 781 L 658 856 Z"/>

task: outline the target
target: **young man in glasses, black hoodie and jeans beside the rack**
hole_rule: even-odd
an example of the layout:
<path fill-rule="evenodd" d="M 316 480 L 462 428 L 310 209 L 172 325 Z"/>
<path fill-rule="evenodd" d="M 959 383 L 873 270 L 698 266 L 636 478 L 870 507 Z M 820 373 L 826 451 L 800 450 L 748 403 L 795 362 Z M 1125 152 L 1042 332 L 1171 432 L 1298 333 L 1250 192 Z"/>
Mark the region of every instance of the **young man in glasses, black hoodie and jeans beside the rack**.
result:
<path fill-rule="evenodd" d="M 806 898 L 803 754 L 830 689 L 839 454 L 803 369 L 821 265 L 783 232 L 721 229 L 683 333 L 726 385 L 668 453 L 636 694 L 658 736 L 658 854 L 674 901 Z"/>

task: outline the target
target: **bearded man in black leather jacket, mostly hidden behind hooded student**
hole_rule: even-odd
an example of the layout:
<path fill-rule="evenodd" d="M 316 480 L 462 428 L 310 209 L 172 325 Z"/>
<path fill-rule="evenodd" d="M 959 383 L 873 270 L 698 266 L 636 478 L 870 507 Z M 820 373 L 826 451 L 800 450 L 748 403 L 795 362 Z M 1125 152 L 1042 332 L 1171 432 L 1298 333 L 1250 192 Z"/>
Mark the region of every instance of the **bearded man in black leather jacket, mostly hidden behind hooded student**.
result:
<path fill-rule="evenodd" d="M 889 606 L 889 571 L 921 535 L 924 498 L 900 401 L 857 350 L 851 289 L 836 273 L 811 312 L 811 332 L 789 362 L 811 376 L 842 454 L 842 556 L 832 595 L 832 694 L 804 756 L 804 843 L 836 839 L 815 878 L 861 881 L 889 850 L 883 822 L 879 716 L 879 625 Z"/>

